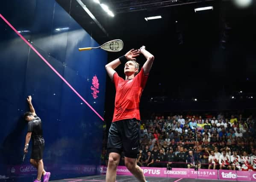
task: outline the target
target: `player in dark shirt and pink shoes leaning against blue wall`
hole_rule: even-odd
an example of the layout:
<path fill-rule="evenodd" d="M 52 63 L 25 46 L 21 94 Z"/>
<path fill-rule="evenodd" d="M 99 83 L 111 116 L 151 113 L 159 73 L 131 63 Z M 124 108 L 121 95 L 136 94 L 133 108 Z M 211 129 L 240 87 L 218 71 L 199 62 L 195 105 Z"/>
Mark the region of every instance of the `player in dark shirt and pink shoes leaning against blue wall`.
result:
<path fill-rule="evenodd" d="M 41 182 L 43 175 L 44 182 L 48 182 L 50 178 L 50 172 L 44 170 L 43 155 L 44 155 L 44 138 L 42 130 L 41 119 L 36 116 L 35 109 L 32 105 L 32 97 L 29 95 L 27 98 L 30 112 L 24 113 L 24 118 L 28 122 L 28 131 L 26 134 L 24 153 L 27 153 L 26 146 L 32 136 L 32 152 L 30 157 L 30 163 L 37 168 L 37 179 L 34 182 Z"/>

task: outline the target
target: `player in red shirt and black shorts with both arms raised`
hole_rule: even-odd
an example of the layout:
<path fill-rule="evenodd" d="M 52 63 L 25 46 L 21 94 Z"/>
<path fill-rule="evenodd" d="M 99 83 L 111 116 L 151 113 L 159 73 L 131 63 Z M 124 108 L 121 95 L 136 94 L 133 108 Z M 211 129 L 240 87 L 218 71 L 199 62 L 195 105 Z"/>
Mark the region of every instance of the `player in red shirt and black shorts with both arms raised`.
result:
<path fill-rule="evenodd" d="M 139 71 L 136 57 L 140 54 L 144 55 L 147 61 Z M 106 65 L 106 71 L 116 89 L 115 110 L 107 144 L 109 163 L 106 182 L 115 182 L 122 151 L 124 151 L 124 162 L 128 170 L 140 182 L 146 182 L 143 170 L 136 162 L 140 140 L 139 103 L 153 61 L 154 56 L 145 49 L 145 46 L 141 46 L 140 49 L 131 49 L 124 56 Z M 115 72 L 115 68 L 122 63 L 125 80 Z"/>

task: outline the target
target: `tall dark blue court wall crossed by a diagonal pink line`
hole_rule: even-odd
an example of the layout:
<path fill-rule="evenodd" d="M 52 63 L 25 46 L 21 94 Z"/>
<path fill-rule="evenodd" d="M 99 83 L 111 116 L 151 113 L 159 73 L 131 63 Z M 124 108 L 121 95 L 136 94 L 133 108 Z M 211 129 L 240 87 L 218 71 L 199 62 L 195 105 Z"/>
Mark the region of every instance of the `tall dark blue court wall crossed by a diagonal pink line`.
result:
<path fill-rule="evenodd" d="M 0 14 L 103 117 L 107 54 L 78 51 L 98 43 L 55 0 L 6 1 Z M 28 95 L 43 122 L 51 180 L 98 174 L 103 121 L 1 18 L 0 69 L 0 181 L 36 176 L 30 152 L 22 162 Z"/>

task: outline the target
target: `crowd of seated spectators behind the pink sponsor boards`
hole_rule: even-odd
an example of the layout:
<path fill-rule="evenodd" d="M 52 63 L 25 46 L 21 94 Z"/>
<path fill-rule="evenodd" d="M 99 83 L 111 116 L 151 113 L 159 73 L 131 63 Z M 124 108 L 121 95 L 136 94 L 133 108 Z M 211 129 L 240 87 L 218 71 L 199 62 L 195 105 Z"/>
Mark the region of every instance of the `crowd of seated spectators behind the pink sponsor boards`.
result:
<path fill-rule="evenodd" d="M 156 116 L 141 121 L 139 166 L 256 171 L 252 116 Z M 107 151 L 103 150 L 103 164 Z M 104 163 L 106 162 L 106 163 Z M 124 156 L 120 164 L 124 165 Z"/>

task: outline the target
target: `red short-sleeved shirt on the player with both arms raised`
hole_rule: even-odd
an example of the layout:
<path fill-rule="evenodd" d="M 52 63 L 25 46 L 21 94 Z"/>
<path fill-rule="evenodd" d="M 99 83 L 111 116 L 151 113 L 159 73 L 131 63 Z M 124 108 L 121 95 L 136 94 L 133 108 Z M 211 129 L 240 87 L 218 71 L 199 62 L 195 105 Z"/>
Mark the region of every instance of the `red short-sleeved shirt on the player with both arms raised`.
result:
<path fill-rule="evenodd" d="M 130 80 L 124 80 L 115 72 L 113 82 L 115 84 L 115 110 L 113 121 L 136 118 L 141 119 L 139 104 L 141 93 L 146 85 L 148 75 L 141 71 Z"/>

